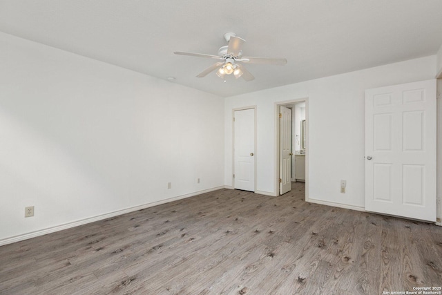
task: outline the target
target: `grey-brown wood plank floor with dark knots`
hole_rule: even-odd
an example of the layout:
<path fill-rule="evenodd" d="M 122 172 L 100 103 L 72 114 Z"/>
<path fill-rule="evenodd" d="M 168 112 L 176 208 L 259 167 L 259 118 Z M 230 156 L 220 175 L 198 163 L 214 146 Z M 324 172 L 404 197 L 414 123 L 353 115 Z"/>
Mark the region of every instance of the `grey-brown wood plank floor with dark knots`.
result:
<path fill-rule="evenodd" d="M 0 247 L 0 294 L 383 294 L 442 286 L 442 227 L 222 189 Z"/>

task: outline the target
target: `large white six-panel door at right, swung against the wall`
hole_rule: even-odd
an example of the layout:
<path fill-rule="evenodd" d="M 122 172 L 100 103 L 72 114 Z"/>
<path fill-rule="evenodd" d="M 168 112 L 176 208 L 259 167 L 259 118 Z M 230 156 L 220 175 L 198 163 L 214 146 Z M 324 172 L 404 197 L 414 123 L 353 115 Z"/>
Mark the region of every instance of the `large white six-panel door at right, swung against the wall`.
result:
<path fill-rule="evenodd" d="M 365 209 L 436 221 L 436 80 L 365 91 Z"/>

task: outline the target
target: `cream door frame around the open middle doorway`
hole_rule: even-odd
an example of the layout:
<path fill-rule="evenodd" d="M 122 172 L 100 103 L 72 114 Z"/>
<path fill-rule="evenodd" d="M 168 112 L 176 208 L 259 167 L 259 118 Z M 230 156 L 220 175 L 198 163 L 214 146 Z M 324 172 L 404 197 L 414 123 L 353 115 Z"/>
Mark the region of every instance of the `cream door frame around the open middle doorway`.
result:
<path fill-rule="evenodd" d="M 296 104 L 297 102 L 305 102 L 305 201 L 309 202 L 309 97 L 302 97 L 298 99 L 290 99 L 281 102 L 275 102 L 274 104 L 274 117 L 275 117 L 275 180 L 273 183 L 273 191 L 275 196 L 280 196 L 279 191 L 279 173 L 280 173 L 280 124 L 279 124 L 279 106 L 287 106 L 289 104 Z"/>

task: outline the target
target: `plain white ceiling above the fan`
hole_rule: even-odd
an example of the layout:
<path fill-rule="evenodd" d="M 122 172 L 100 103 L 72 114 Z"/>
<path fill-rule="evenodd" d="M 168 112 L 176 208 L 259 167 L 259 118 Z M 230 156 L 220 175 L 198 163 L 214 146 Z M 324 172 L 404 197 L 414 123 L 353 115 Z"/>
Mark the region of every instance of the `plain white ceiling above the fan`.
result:
<path fill-rule="evenodd" d="M 0 31 L 220 96 L 436 54 L 441 0 L 0 0 Z M 246 39 L 252 82 L 211 73 L 225 32 Z"/>

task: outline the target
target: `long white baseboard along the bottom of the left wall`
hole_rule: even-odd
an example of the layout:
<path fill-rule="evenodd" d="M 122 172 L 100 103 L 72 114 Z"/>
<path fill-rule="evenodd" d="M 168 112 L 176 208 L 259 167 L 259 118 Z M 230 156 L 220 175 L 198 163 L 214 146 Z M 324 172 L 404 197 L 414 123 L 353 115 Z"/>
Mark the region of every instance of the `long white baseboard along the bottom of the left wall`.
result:
<path fill-rule="evenodd" d="M 0 246 L 12 244 L 13 242 L 19 242 L 21 240 L 28 240 L 29 238 L 35 238 L 37 236 L 44 236 L 46 234 L 54 233 L 55 231 L 62 231 L 64 229 L 70 229 L 72 227 L 78 227 L 79 225 L 86 225 L 87 223 L 90 223 L 90 222 L 104 220 L 106 218 L 112 218 L 112 217 L 123 215 L 123 214 L 126 214 L 126 213 L 131 213 L 133 211 L 138 211 L 138 210 L 146 209 L 146 208 L 149 208 L 149 207 L 154 207 L 154 206 L 157 206 L 157 205 L 160 205 L 160 204 L 165 204 L 165 203 L 173 202 L 173 201 L 176 201 L 176 200 L 182 200 L 182 199 L 185 199 L 185 198 L 190 198 L 190 197 L 193 197 L 193 196 L 200 195 L 202 193 L 209 193 L 211 191 L 218 191 L 218 189 L 224 189 L 224 186 L 213 187 L 212 189 L 204 189 L 202 191 L 195 191 L 194 193 L 187 193 L 187 194 L 182 195 L 182 196 L 176 196 L 176 197 L 173 197 L 173 198 L 168 198 L 168 199 L 160 200 L 160 201 L 157 201 L 157 202 L 151 202 L 151 203 L 148 203 L 148 204 L 142 204 L 142 205 L 131 207 L 131 208 L 127 208 L 127 209 L 113 211 L 113 212 L 102 214 L 102 215 L 99 215 L 99 216 L 94 216 L 94 217 L 90 217 L 90 218 L 84 218 L 84 219 L 77 220 L 77 221 L 74 221 L 74 222 L 68 222 L 68 223 L 65 223 L 64 225 L 57 225 L 55 227 L 48 227 L 47 229 L 41 229 L 41 230 L 38 230 L 38 231 L 32 231 L 32 232 L 30 232 L 28 234 L 22 234 L 22 235 L 19 235 L 19 236 L 12 236 L 10 238 L 4 238 L 4 239 L 0 240 Z"/>

